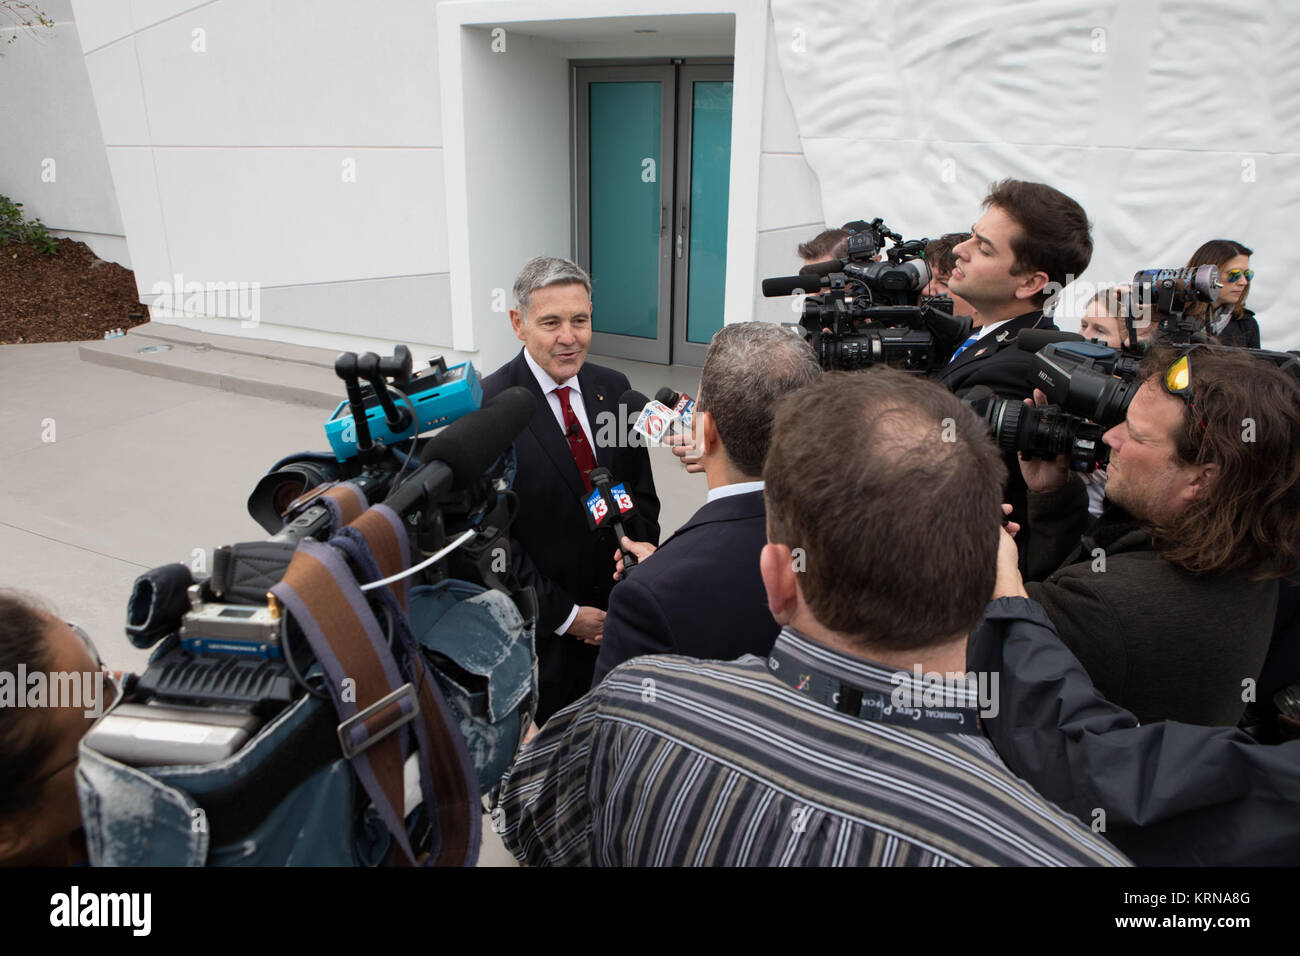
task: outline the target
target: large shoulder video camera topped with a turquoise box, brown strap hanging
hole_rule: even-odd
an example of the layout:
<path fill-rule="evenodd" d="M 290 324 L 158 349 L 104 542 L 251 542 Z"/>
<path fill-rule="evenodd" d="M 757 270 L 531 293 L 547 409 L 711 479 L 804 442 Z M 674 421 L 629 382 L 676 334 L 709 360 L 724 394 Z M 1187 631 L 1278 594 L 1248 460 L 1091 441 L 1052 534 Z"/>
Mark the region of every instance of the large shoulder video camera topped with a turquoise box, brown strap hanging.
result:
<path fill-rule="evenodd" d="M 530 588 L 516 587 L 508 540 L 517 506 L 510 490 L 512 442 L 532 418 L 536 401 L 528 390 L 514 388 L 480 408 L 481 389 L 472 365 L 448 369 L 436 359 L 412 377 L 411 356 L 403 346 L 384 359 L 346 352 L 335 362 L 335 372 L 348 395 L 348 414 L 342 414 L 341 405 L 325 425 L 334 453 L 282 459 L 248 498 L 250 515 L 270 537 L 218 548 L 208 576 L 185 564 L 166 564 L 136 580 L 127 605 L 127 637 L 136 646 L 159 646 L 146 671 L 129 682 L 113 709 L 87 735 L 83 766 L 125 763 L 144 774 L 136 774 L 136 782 L 151 773 L 169 779 L 173 767 L 191 774 L 212 767 L 211 773 L 221 774 L 231 761 L 244 757 L 254 737 L 264 753 L 270 747 L 265 735 L 270 735 L 276 745 L 283 744 L 286 754 L 277 766 L 287 763 L 283 775 L 298 774 L 303 782 L 309 771 L 356 758 L 417 717 L 424 721 L 436 702 L 434 709 L 450 713 L 464 732 L 462 743 L 446 743 L 443 752 L 465 753 L 468 747 L 467 774 L 472 779 L 477 771 L 484 791 L 499 780 L 536 702 L 536 596 Z M 390 390 L 406 407 L 394 403 Z M 436 424 L 446 427 L 420 438 L 420 432 Z M 378 503 L 386 507 L 370 507 Z M 382 533 L 372 535 L 368 529 L 376 522 Z M 325 541 L 329 544 L 315 544 Z M 393 546 L 381 554 L 376 541 L 391 541 Z M 342 711 L 335 715 L 333 706 L 338 700 L 337 675 L 328 659 L 333 648 L 321 639 L 337 622 L 322 617 L 324 605 L 313 605 L 311 594 L 304 598 L 311 620 L 303 618 L 302 605 L 286 605 L 281 589 L 289 581 L 290 562 L 308 544 L 318 561 L 338 568 L 346 581 L 341 593 L 355 593 L 360 585 L 364 597 L 350 598 L 351 613 L 363 628 L 370 620 L 386 632 L 387 650 L 377 646 L 376 659 L 391 654 L 398 670 L 389 672 L 391 665 L 384 665 L 387 679 L 395 685 L 406 682 L 374 708 L 342 722 Z M 403 579 L 400 594 L 408 598 L 410 619 L 395 597 L 399 585 L 390 579 L 374 580 L 385 561 L 407 568 L 394 578 Z M 300 594 L 290 593 L 296 602 Z M 358 601 L 368 605 L 373 618 Z M 425 614 L 422 627 L 416 620 L 417 606 L 437 611 L 432 618 Z M 439 645 L 434 622 L 443 614 L 455 624 L 448 624 L 450 643 Z M 512 635 L 502 630 L 507 620 L 514 622 Z M 400 635 L 406 637 L 399 640 Z M 523 635 L 526 640 L 515 640 Z M 485 646 L 498 636 L 497 645 Z M 420 662 L 412 663 L 411 652 L 419 653 Z M 493 674 L 503 661 L 512 667 L 508 689 Z M 420 674 L 432 674 L 436 682 Z M 441 689 L 430 691 L 430 683 Z M 311 702 L 307 698 L 317 698 L 317 705 L 324 701 L 322 708 L 307 711 L 311 726 L 322 728 L 307 747 L 315 754 L 309 766 L 304 765 L 307 757 L 294 756 L 304 747 L 302 740 L 276 736 L 282 724 L 299 719 L 303 705 Z M 377 721 L 391 726 L 374 732 Z M 474 721 L 488 727 L 485 739 L 471 739 L 474 731 L 468 724 Z M 421 748 L 428 726 L 413 731 L 424 735 Z M 451 727 L 454 734 L 455 723 Z M 421 749 L 421 760 L 426 757 Z M 92 770 L 87 774 L 94 777 Z M 243 780 L 240 801 L 217 799 L 216 804 L 229 814 L 228 821 L 247 817 L 240 804 L 248 803 L 272 814 L 287 788 L 264 784 L 260 777 Z M 420 786 L 436 784 L 424 780 Z M 476 791 L 472 799 L 477 797 Z M 476 832 L 477 813 L 474 804 Z M 432 839 L 436 825 L 433 819 L 421 822 L 425 838 Z M 229 832 L 231 825 L 226 826 Z M 417 847 L 415 832 L 411 845 Z M 472 851 L 477 853 L 477 844 Z"/>

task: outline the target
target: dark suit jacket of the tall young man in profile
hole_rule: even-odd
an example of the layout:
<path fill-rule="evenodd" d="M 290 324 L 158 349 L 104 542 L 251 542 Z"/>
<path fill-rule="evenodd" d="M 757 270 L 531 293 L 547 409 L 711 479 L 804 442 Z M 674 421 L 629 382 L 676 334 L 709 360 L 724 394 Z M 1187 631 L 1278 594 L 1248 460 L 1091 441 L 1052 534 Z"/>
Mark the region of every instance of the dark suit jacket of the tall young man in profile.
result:
<path fill-rule="evenodd" d="M 1034 394 L 1027 381 L 1034 354 L 1018 347 L 1015 337 L 1024 329 L 1054 328 L 1052 320 L 1041 311 L 1017 316 L 958 355 L 957 362 L 940 371 L 939 381 L 957 393 L 958 398 L 965 398 L 976 385 L 987 385 L 1000 398 L 1020 402 Z M 1011 520 L 1023 525 L 1026 488 L 1024 477 L 1020 475 L 1020 462 L 1014 451 L 1004 455 L 1004 462 L 1006 463 L 1004 501 L 1011 506 Z M 1024 570 L 1023 559 L 1020 570 Z"/>

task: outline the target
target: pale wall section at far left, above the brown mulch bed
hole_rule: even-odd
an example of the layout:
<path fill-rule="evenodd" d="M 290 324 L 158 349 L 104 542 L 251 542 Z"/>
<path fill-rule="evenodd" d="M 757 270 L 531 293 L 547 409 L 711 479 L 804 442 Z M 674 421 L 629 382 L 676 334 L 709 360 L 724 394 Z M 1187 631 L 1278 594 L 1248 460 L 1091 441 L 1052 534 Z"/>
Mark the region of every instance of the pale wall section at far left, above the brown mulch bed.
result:
<path fill-rule="evenodd" d="M 0 194 L 130 267 L 72 7 L 39 7 L 53 29 L 0 30 Z"/>

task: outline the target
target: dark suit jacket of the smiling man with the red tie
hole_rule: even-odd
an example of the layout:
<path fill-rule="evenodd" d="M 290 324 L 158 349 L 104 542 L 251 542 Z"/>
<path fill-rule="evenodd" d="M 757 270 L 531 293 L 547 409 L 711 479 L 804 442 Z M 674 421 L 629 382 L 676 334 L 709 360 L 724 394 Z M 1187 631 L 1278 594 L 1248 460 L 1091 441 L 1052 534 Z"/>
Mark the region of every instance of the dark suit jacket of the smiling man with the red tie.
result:
<path fill-rule="evenodd" d="M 577 380 L 592 427 L 595 463 L 608 468 L 616 483 L 627 485 L 637 507 L 637 514 L 624 528 L 638 541 L 658 542 L 659 498 L 650 473 L 650 455 L 645 447 L 611 447 L 610 442 L 602 441 L 602 414 L 618 415 L 619 398 L 629 388 L 628 377 L 588 362 L 578 371 Z M 582 477 L 551 406 L 524 360 L 523 350 L 484 378 L 484 402 L 512 385 L 523 385 L 537 399 L 532 421 L 515 440 L 519 460 L 515 492 L 520 507 L 510 536 L 514 571 L 520 584 L 537 591 L 537 657 L 542 684 L 540 715 L 545 719 L 582 696 L 592 683 L 597 648 L 554 632 L 573 605 L 606 607 L 614 587 L 612 555 L 618 542 L 612 532 L 593 532 L 588 527 Z M 547 693 L 547 685 L 576 688 L 577 692 L 562 701 L 556 700 L 556 692 Z M 559 693 L 564 697 L 571 691 Z"/>

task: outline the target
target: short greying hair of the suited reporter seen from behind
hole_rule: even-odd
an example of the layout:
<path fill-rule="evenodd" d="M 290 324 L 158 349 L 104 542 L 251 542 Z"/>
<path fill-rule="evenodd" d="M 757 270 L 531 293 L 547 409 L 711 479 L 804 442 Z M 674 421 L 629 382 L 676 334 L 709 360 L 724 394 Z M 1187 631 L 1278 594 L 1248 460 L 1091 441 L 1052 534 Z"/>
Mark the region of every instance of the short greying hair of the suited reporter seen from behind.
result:
<path fill-rule="evenodd" d="M 822 378 L 812 349 L 774 323 L 724 325 L 708 343 L 697 411 L 707 411 L 732 467 L 759 476 L 783 395 Z"/>

